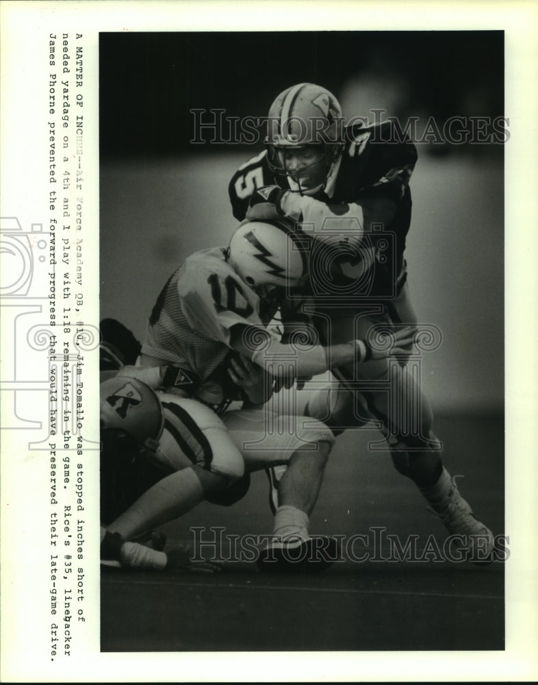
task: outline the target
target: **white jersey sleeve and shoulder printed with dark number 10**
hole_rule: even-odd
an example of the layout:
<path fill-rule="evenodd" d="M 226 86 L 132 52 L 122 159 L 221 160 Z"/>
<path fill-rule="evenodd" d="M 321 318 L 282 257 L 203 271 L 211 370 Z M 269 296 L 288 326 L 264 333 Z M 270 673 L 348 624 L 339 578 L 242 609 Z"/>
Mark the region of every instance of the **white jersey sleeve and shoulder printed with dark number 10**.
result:
<path fill-rule="evenodd" d="M 263 325 L 259 299 L 222 259 L 196 253 L 185 261 L 177 281 L 181 310 L 201 336 L 229 346 L 236 324 Z"/>

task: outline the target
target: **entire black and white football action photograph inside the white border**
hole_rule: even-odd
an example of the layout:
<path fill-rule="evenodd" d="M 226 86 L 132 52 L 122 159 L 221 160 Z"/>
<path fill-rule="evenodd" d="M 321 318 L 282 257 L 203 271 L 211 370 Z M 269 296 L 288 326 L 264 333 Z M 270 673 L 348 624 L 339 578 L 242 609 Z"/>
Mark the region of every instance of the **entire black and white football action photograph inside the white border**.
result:
<path fill-rule="evenodd" d="M 503 649 L 503 32 L 99 67 L 101 649 Z"/>

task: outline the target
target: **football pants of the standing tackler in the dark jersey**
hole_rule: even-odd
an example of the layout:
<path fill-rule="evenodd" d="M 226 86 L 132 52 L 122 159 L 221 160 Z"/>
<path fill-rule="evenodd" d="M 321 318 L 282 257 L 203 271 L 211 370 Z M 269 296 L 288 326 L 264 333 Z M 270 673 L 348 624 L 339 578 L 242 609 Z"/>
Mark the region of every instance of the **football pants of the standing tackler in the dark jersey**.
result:
<path fill-rule="evenodd" d="M 368 303 L 353 309 L 335 303 L 330 308 L 316 310 L 316 325 L 322 342 L 329 347 L 357 338 L 368 340 L 374 326 L 390 330 L 413 324 L 416 324 L 416 316 L 407 284 L 398 297 L 389 302 Z M 375 344 L 375 336 L 372 342 Z M 383 340 L 380 342 L 382 344 Z M 378 421 L 396 469 L 419 486 L 427 487 L 441 473 L 441 443 L 432 432 L 433 416 L 420 387 L 420 373 L 420 351 L 413 351 L 405 365 L 396 358 L 389 358 L 338 369 L 334 375 L 352 392 L 347 393 L 347 412 L 340 412 L 340 416 L 334 416 L 329 423 L 333 431 L 339 433 L 352 425 L 350 421 L 356 426 L 372 418 Z M 361 398 L 363 403 L 359 401 Z"/>

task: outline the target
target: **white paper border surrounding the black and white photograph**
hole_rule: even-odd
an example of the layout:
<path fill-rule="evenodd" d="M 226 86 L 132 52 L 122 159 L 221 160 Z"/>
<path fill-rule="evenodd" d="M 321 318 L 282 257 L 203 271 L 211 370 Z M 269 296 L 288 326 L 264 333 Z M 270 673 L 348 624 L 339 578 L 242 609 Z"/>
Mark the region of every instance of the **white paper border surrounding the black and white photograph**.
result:
<path fill-rule="evenodd" d="M 47 466 L 26 454 L 24 431 L 1 432 L 1 680 L 3 682 L 318 682 L 439 680 L 534 680 L 538 677 L 535 637 L 538 634 L 537 534 L 538 465 L 537 358 L 538 339 L 535 264 L 537 238 L 538 165 L 529 155 L 535 149 L 538 82 L 538 7 L 532 2 L 383 3 L 298 2 L 149 2 L 60 1 L 17 2 L 0 5 L 1 16 L 1 216 L 16 216 L 23 232 L 47 221 L 48 179 L 43 182 L 35 158 L 47 148 L 46 122 L 40 98 L 46 95 L 48 36 L 66 32 L 84 35 L 86 155 L 84 218 L 86 225 L 86 321 L 99 321 L 99 32 L 209 31 L 209 30 L 414 30 L 496 29 L 505 32 L 505 114 L 511 140 L 506 147 L 506 399 L 507 399 L 507 508 L 506 530 L 511 558 L 506 567 L 506 649 L 502 652 L 409 653 L 272 653 L 271 669 L 259 668 L 260 656 L 233 653 L 101 653 L 99 603 L 88 608 L 84 645 L 71 659 L 51 661 L 43 625 L 50 623 L 35 599 L 47 593 L 47 570 L 38 560 L 47 558 L 49 521 L 32 506 L 42 496 Z M 285 20 L 284 20 L 285 16 Z M 86 123 L 85 123 L 86 125 Z M 46 229 L 46 226 L 45 226 Z M 35 236 L 34 236 L 35 237 Z M 42 275 L 46 278 L 46 275 Z M 44 284 L 43 287 L 47 287 Z M 42 306 L 41 294 L 32 292 L 32 304 Z M 34 301 L 35 300 L 35 301 Z M 47 310 L 43 309 L 46 312 Z M 3 323 L 13 321 L 1 311 Z M 12 325 L 14 325 L 12 323 Z M 18 340 L 2 334 L 3 410 L 13 401 L 9 382 L 16 378 L 6 358 L 17 351 Z M 97 395 L 91 377 L 97 360 L 86 364 L 86 397 Z M 35 401 L 30 386 L 27 397 Z M 24 393 L 23 393 L 24 394 Z M 6 399 L 8 397 L 10 399 Z M 21 400 L 19 400 L 21 401 Z M 24 399 L 26 401 L 26 399 Z M 6 404 L 5 404 L 6 403 Z M 17 414 L 15 408 L 14 411 Z M 19 412 L 20 413 L 20 412 Z M 36 416 L 42 408 L 36 408 Z M 17 414 L 18 415 L 18 414 Z M 88 438 L 98 439 L 97 417 L 87 420 Z M 34 455 L 35 457 L 35 455 Z M 99 475 L 86 474 L 88 505 L 95 523 L 86 524 L 86 549 L 96 558 L 86 573 L 86 592 L 99 596 L 97 501 Z M 44 575 L 43 580 L 39 574 Z M 83 648 L 84 647 L 84 648 Z M 278 664 L 274 667 L 274 664 Z"/>

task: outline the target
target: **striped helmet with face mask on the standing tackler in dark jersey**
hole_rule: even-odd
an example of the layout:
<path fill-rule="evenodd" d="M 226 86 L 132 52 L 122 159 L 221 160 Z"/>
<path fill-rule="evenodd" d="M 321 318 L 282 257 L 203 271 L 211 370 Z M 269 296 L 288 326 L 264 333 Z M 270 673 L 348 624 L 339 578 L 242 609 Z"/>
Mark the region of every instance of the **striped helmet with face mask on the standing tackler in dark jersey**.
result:
<path fill-rule="evenodd" d="M 315 84 L 297 84 L 277 96 L 269 110 L 267 160 L 281 188 L 315 195 L 326 186 L 344 149 L 344 118 L 335 96 Z M 287 154 L 311 147 L 316 160 L 289 169 Z"/>

